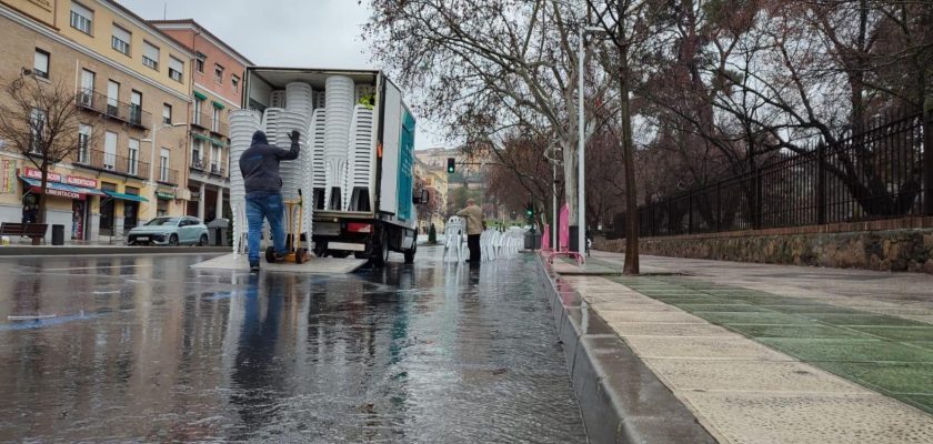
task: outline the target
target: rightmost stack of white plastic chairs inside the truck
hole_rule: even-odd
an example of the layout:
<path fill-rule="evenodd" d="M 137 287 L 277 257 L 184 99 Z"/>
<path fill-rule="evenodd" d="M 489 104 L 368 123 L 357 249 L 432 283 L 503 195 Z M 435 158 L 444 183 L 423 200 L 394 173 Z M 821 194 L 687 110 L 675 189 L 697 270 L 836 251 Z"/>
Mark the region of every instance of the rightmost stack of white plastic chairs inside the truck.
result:
<path fill-rule="evenodd" d="M 373 112 L 365 105 L 353 107 L 350 123 L 350 152 L 347 183 L 343 185 L 343 211 L 359 211 L 362 195 L 369 198 L 372 147 L 375 143 Z"/>

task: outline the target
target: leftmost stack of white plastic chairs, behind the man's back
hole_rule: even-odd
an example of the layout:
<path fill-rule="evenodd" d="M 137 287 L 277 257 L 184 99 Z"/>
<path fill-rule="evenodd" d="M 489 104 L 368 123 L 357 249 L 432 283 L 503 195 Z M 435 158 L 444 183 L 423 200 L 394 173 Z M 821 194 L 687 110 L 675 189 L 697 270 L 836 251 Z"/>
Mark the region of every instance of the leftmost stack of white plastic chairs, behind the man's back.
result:
<path fill-rule="evenodd" d="M 239 173 L 240 154 L 252 142 L 252 135 L 261 128 L 258 112 L 252 110 L 234 110 L 230 112 L 230 208 L 233 211 L 233 253 L 240 254 L 245 250 L 245 239 L 249 231 L 247 223 L 247 202 L 243 175 Z M 235 172 L 234 172 L 235 171 Z"/>

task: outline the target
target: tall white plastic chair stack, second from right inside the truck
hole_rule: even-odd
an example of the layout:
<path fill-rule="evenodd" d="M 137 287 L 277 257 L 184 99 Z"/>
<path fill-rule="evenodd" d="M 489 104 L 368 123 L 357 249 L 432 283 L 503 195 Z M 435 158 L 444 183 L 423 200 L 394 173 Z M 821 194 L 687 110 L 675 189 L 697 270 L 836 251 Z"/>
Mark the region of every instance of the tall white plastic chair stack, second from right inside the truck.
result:
<path fill-rule="evenodd" d="M 337 189 L 337 196 L 342 196 L 347 181 L 347 161 L 350 148 L 350 124 L 353 120 L 353 99 L 355 91 L 353 79 L 331 75 L 325 82 L 327 115 L 324 117 L 324 204 L 328 209 L 338 209 L 332 204 L 331 195 Z"/>

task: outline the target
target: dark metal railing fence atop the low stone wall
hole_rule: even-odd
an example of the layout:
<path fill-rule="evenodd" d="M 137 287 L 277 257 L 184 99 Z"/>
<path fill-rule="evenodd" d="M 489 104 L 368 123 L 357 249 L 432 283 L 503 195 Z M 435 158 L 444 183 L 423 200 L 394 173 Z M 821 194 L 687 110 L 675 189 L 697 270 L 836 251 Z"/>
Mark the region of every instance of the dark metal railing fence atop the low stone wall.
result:
<path fill-rule="evenodd" d="M 886 119 L 832 145 L 774 153 L 749 173 L 639 208 L 639 231 L 663 236 L 933 215 L 933 152 L 924 152 L 933 138 L 923 123 L 922 114 Z M 624 236 L 624 213 L 614 228 Z"/>

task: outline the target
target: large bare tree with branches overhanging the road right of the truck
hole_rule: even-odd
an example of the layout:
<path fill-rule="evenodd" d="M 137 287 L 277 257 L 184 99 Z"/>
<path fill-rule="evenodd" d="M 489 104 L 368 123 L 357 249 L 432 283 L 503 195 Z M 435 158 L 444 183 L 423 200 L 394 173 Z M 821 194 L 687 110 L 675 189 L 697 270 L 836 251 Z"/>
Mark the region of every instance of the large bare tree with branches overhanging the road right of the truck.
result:
<path fill-rule="evenodd" d="M 592 133 L 572 118 L 582 22 L 576 8 L 556 0 L 371 4 L 364 36 L 401 83 L 423 91 L 420 111 L 447 123 L 468 150 L 502 150 L 515 131 L 555 139 L 563 148 L 564 198 L 576 214 L 576 142 L 581 132 Z M 599 72 L 589 81 L 592 97 L 606 95 L 612 84 Z"/>

